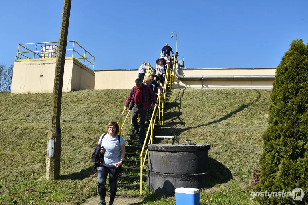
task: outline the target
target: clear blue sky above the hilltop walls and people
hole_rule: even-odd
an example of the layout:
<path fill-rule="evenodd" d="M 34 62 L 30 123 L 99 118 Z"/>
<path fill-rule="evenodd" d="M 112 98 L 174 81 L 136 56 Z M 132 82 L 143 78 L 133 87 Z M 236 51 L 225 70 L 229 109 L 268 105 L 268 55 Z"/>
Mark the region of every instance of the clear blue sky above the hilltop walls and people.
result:
<path fill-rule="evenodd" d="M 174 3 L 172 3 L 174 2 Z M 0 62 L 19 43 L 58 41 L 62 0 L 1 1 Z M 95 70 L 155 65 L 165 43 L 187 68 L 277 67 L 293 39 L 308 43 L 307 0 L 72 0 L 68 40 L 95 56 Z"/>

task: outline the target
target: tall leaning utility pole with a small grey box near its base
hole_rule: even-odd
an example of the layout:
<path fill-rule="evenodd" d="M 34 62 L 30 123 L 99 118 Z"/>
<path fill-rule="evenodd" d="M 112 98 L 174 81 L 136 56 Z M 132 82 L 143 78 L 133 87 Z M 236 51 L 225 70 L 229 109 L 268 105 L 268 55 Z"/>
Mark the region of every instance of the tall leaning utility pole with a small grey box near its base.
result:
<path fill-rule="evenodd" d="M 61 155 L 61 101 L 64 61 L 67 44 L 68 22 L 70 20 L 71 0 L 63 1 L 62 19 L 60 26 L 58 53 L 55 69 L 54 95 L 51 111 L 51 132 L 48 133 L 46 156 L 46 179 L 57 179 L 60 175 Z"/>

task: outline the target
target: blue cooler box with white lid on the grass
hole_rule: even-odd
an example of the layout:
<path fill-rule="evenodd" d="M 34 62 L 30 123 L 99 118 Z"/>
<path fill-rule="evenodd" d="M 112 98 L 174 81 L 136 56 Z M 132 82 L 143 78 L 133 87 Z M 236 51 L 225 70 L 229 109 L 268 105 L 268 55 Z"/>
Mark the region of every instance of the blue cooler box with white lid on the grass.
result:
<path fill-rule="evenodd" d="M 174 192 L 176 205 L 199 205 L 199 189 L 181 187 L 175 189 Z"/>

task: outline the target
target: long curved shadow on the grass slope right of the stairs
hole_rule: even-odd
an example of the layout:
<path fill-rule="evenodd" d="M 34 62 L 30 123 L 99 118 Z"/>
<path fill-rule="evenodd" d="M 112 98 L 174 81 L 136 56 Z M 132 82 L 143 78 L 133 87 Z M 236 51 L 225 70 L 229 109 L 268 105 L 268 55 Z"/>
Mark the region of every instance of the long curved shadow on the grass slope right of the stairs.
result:
<path fill-rule="evenodd" d="M 252 102 L 250 102 L 250 103 L 248 103 L 248 104 L 243 104 L 243 105 L 241 105 L 241 107 L 237 108 L 236 110 L 233 110 L 232 112 L 227 113 L 225 116 L 219 118 L 218 120 L 214 120 L 214 121 L 208 122 L 208 123 L 206 123 L 206 124 L 200 124 L 200 125 L 193 126 L 193 127 L 188 127 L 188 128 L 164 128 L 164 133 L 168 133 L 168 135 L 170 135 L 170 136 L 172 136 L 172 135 L 173 135 L 173 136 L 179 136 L 179 134 L 181 134 L 182 132 L 184 132 L 184 131 L 186 131 L 186 130 L 190 130 L 190 129 L 194 129 L 194 128 L 200 128 L 200 127 L 202 127 L 202 126 L 208 126 L 208 125 L 211 125 L 211 124 L 214 124 L 214 123 L 219 123 L 219 122 L 221 122 L 221 121 L 223 121 L 223 120 L 227 120 L 229 117 L 233 116 L 234 114 L 236 114 L 236 113 L 238 113 L 238 112 L 241 112 L 243 109 L 248 108 L 250 105 L 252 105 L 252 104 L 254 104 L 254 103 L 256 103 L 257 101 L 260 100 L 261 93 L 260 93 L 258 90 L 256 90 L 256 89 L 253 89 L 253 90 L 256 91 L 256 92 L 258 93 L 258 97 L 257 97 L 254 101 L 252 101 Z M 184 91 L 183 91 L 183 93 L 184 93 Z M 178 96 L 180 97 L 180 102 L 182 101 L 181 98 L 183 97 L 183 93 L 182 93 L 182 95 L 181 95 L 181 97 L 180 97 L 180 92 L 179 92 L 179 95 L 178 95 Z M 181 105 L 178 105 L 178 104 L 180 104 L 180 103 L 174 102 L 174 103 L 170 103 L 170 104 L 171 104 L 170 106 L 177 106 L 178 109 L 179 109 L 179 111 L 180 111 Z M 174 104 L 175 104 L 175 105 L 174 105 Z M 164 126 L 165 126 L 165 127 L 173 127 L 173 126 L 176 126 L 176 125 L 178 125 L 178 124 L 185 125 L 185 122 L 183 122 L 183 121 L 180 119 L 180 115 L 181 115 L 181 114 L 182 114 L 182 112 L 173 112 L 173 114 L 170 113 L 170 116 L 169 116 L 169 115 L 166 113 L 166 116 L 169 116 L 169 119 L 171 119 L 171 120 L 170 120 L 170 122 L 164 123 Z M 175 121 L 173 120 L 174 118 L 177 118 L 177 119 L 179 120 L 179 122 L 175 122 Z"/>

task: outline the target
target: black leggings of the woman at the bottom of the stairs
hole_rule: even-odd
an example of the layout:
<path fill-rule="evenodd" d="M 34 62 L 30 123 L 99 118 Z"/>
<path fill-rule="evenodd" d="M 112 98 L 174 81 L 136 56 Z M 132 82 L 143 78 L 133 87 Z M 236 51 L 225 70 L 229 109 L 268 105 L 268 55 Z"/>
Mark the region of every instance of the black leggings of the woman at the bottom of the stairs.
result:
<path fill-rule="evenodd" d="M 115 200 L 116 195 L 116 181 L 118 179 L 118 175 L 120 172 L 120 168 L 115 167 L 105 167 L 103 165 L 99 165 L 97 168 L 97 179 L 98 179 L 98 193 L 100 200 L 105 200 L 106 198 L 106 180 L 107 175 L 109 174 L 109 187 L 110 187 L 110 202 Z"/>

